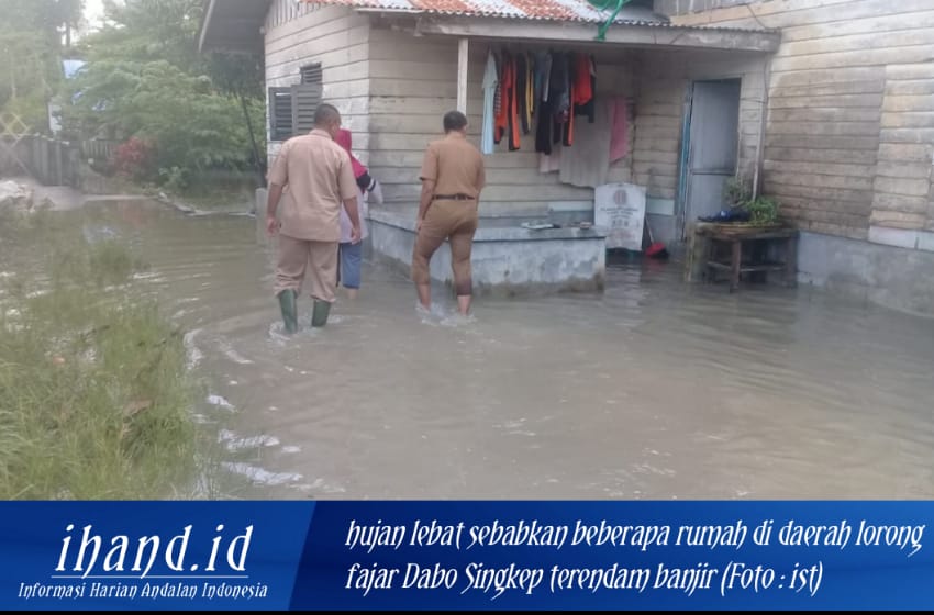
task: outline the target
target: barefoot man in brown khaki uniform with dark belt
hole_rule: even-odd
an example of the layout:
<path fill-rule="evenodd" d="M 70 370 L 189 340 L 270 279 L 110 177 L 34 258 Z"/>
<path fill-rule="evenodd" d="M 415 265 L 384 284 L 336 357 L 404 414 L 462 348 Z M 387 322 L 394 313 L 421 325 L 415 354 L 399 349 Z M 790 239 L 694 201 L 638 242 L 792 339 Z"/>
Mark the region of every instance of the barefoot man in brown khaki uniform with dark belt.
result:
<path fill-rule="evenodd" d="M 445 239 L 451 244 L 454 288 L 462 314 L 470 311 L 472 271 L 470 253 L 479 217 L 478 202 L 486 183 L 483 156 L 467 141 L 467 116 L 444 116 L 445 137 L 429 145 L 422 164 L 422 198 L 412 255 L 412 280 L 419 301 L 431 309 L 430 261 Z"/>

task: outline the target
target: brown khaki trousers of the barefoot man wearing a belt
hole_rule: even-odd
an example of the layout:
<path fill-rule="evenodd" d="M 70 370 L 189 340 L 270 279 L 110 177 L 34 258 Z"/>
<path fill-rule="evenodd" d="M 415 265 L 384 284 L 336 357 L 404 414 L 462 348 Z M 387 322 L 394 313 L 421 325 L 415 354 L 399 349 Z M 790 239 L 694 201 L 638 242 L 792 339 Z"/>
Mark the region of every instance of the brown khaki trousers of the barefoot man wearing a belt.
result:
<path fill-rule="evenodd" d="M 451 244 L 451 268 L 458 297 L 472 294 L 470 253 L 477 232 L 477 201 L 435 201 L 429 208 L 415 237 L 412 255 L 412 281 L 431 283 L 431 258 L 445 239 Z"/>

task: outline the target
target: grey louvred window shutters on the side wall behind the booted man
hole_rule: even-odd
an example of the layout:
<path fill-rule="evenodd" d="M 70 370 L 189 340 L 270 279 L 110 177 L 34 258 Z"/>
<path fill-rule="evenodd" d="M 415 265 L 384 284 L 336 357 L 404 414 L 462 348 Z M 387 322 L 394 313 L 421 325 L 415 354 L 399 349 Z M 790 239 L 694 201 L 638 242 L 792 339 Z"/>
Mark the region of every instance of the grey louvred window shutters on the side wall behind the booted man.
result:
<path fill-rule="evenodd" d="M 314 112 L 321 104 L 321 64 L 303 66 L 294 86 L 269 88 L 269 141 L 287 141 L 314 127 Z"/>

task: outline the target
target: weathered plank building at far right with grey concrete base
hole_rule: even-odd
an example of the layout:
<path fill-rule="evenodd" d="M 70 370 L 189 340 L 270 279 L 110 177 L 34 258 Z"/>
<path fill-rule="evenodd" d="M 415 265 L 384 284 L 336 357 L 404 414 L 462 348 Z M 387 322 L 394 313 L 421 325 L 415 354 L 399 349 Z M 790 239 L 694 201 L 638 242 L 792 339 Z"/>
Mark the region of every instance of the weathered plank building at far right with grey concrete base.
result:
<path fill-rule="evenodd" d="M 802 230 L 801 278 L 934 314 L 934 2 L 658 0 L 681 25 L 781 31 L 763 189 Z"/>

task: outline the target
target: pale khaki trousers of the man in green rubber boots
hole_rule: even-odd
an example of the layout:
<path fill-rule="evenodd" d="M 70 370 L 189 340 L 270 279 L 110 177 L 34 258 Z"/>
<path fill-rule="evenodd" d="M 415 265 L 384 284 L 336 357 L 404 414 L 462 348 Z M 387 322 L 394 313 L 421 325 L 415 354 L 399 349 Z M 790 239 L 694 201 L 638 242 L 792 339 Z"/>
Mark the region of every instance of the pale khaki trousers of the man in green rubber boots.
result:
<path fill-rule="evenodd" d="M 311 298 L 333 303 L 337 290 L 337 242 L 309 242 L 279 235 L 276 294 L 293 290 L 301 294 L 308 280 Z"/>

